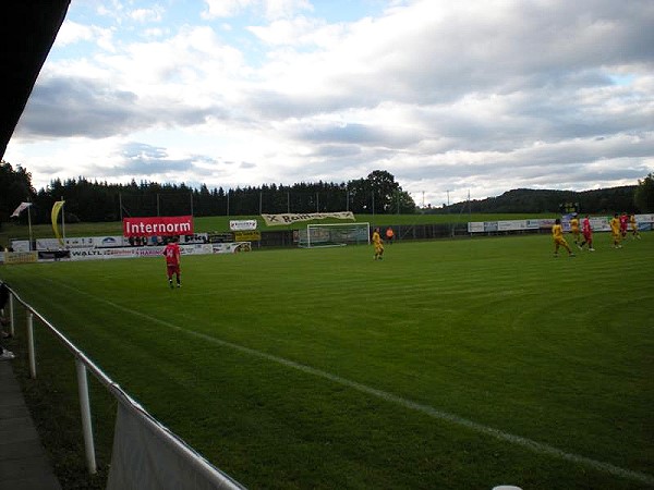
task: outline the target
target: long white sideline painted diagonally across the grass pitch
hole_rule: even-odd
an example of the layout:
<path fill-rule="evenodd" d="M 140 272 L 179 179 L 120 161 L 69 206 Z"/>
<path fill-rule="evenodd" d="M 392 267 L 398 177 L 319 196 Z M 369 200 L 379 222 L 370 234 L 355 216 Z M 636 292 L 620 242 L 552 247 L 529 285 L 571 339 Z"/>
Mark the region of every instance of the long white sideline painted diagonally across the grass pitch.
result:
<path fill-rule="evenodd" d="M 55 281 L 52 281 L 52 282 L 55 282 Z M 290 368 L 298 369 L 299 371 L 306 372 L 308 375 L 313 375 L 313 376 L 317 376 L 319 378 L 328 379 L 328 380 L 334 381 L 334 382 L 336 382 L 338 384 L 342 384 L 344 387 L 352 388 L 352 389 L 354 389 L 356 391 L 360 391 L 362 393 L 366 393 L 366 394 L 376 396 L 378 399 L 382 399 L 382 400 L 387 401 L 387 402 L 395 403 L 395 404 L 403 406 L 405 408 L 410 408 L 410 409 L 413 409 L 413 411 L 416 411 L 416 412 L 421 412 L 421 413 L 423 413 L 425 415 L 428 415 L 429 417 L 436 418 L 438 420 L 445 420 L 445 421 L 448 421 L 448 422 L 457 425 L 457 426 L 465 427 L 465 428 L 471 429 L 471 430 L 473 430 L 475 432 L 480 432 L 480 433 L 483 433 L 483 434 L 486 434 L 486 436 L 491 436 L 491 437 L 493 437 L 495 439 L 499 439 L 500 441 L 510 442 L 511 444 L 516 444 L 516 445 L 522 446 L 524 449 L 533 451 L 534 453 L 545 454 L 545 455 L 548 455 L 548 456 L 554 456 L 554 457 L 559 458 L 559 460 L 564 460 L 564 461 L 568 461 L 568 462 L 571 462 L 571 463 L 576 463 L 576 464 L 579 464 L 579 465 L 582 465 L 582 466 L 586 466 L 589 468 L 593 468 L 593 469 L 596 469 L 596 470 L 600 470 L 600 471 L 603 471 L 603 473 L 608 473 L 610 475 L 618 476 L 618 477 L 621 477 L 621 478 L 626 478 L 626 479 L 629 479 L 629 480 L 632 480 L 632 481 L 640 481 L 642 483 L 645 483 L 645 485 L 654 487 L 654 476 L 649 475 L 646 473 L 633 471 L 631 469 L 621 468 L 621 467 L 613 465 L 610 463 L 604 463 L 604 462 L 601 462 L 601 461 L 597 461 L 597 460 L 593 460 L 591 457 L 581 456 L 581 455 L 574 454 L 574 453 L 569 453 L 567 451 L 560 450 L 560 449 L 555 448 L 553 445 L 544 444 L 544 443 L 541 443 L 541 442 L 536 442 L 536 441 L 534 441 L 532 439 L 523 438 L 523 437 L 520 437 L 520 436 L 513 436 L 513 434 L 511 434 L 509 432 L 505 432 L 505 431 L 499 430 L 499 429 L 494 429 L 493 427 L 487 427 L 487 426 L 484 426 L 482 424 L 477 424 L 477 422 L 469 420 L 467 418 L 459 417 L 458 415 L 453 415 L 453 414 L 449 414 L 447 412 L 443 412 L 443 411 L 436 409 L 436 408 L 434 408 L 434 407 L 432 407 L 429 405 L 423 405 L 421 403 L 412 402 L 411 400 L 407 400 L 407 399 L 403 399 L 401 396 L 395 395 L 392 393 L 388 393 L 386 391 L 382 391 L 382 390 L 377 390 L 375 388 L 371 388 L 371 387 L 368 387 L 366 384 L 362 384 L 362 383 L 359 383 L 356 381 L 349 380 L 347 378 L 341 378 L 340 376 L 331 375 L 330 372 L 323 371 L 320 369 L 316 369 L 316 368 L 313 368 L 311 366 L 299 364 L 299 363 L 295 363 L 293 360 L 286 359 L 283 357 L 275 356 L 272 354 L 266 354 L 264 352 L 256 351 L 256 350 L 250 348 L 250 347 L 245 347 L 243 345 L 233 344 L 231 342 L 227 342 L 227 341 L 223 341 L 223 340 L 220 340 L 220 339 L 216 339 L 215 336 L 210 336 L 210 335 L 207 335 L 205 333 L 199 333 L 199 332 L 195 332 L 193 330 L 187 330 L 187 329 L 178 327 L 177 324 L 170 323 L 170 322 L 168 322 L 166 320 L 161 320 L 159 318 L 150 317 L 149 315 L 146 315 L 144 313 L 141 313 L 141 311 L 137 311 L 137 310 L 134 310 L 134 309 L 131 309 L 131 308 L 128 308 L 128 307 L 124 307 L 124 306 L 120 306 L 120 305 L 118 305 L 116 303 L 112 303 L 112 302 L 110 302 L 108 299 L 104 299 L 104 298 L 94 296 L 94 295 L 92 295 L 89 293 L 86 293 L 84 291 L 77 290 L 77 289 L 75 289 L 73 286 L 70 286 L 68 284 L 60 284 L 60 285 L 63 286 L 63 287 L 68 287 L 68 289 L 71 289 L 73 291 L 76 291 L 77 293 L 83 294 L 85 296 L 90 296 L 90 297 L 93 297 L 94 299 L 96 299 L 98 302 L 106 303 L 106 304 L 108 304 L 108 305 L 110 305 L 110 306 L 112 306 L 112 307 L 114 307 L 117 309 L 120 309 L 122 311 L 125 311 L 125 313 L 129 313 L 129 314 L 142 317 L 142 318 L 145 318 L 145 319 L 154 321 L 156 323 L 160 323 L 160 324 L 162 324 L 165 327 L 168 327 L 168 328 L 170 328 L 172 330 L 177 330 L 177 331 L 183 332 L 183 333 L 189 333 L 189 334 L 191 334 L 193 336 L 196 336 L 198 339 L 203 339 L 203 340 L 205 340 L 207 342 L 211 342 L 214 344 L 218 344 L 218 345 L 221 345 L 221 346 L 225 346 L 225 347 L 232 348 L 234 351 L 242 352 L 244 354 L 249 354 L 249 355 L 252 355 L 252 356 L 255 356 L 255 357 L 267 359 L 267 360 L 270 360 L 272 363 L 281 364 L 283 366 L 288 366 Z"/>

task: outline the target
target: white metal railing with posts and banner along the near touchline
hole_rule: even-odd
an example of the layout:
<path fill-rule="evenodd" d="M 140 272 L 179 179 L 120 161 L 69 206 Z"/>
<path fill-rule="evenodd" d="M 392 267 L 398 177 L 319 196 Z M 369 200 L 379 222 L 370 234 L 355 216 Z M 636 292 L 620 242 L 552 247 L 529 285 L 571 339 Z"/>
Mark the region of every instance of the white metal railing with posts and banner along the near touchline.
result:
<path fill-rule="evenodd" d="M 25 308 L 31 378 L 36 378 L 35 317 L 74 357 L 86 467 L 92 475 L 97 473 L 97 466 L 87 371 L 90 371 L 118 402 L 111 464 L 107 480 L 108 490 L 125 488 L 140 490 L 243 490 L 245 488 L 211 465 L 181 438 L 156 420 L 45 317 L 21 299 L 11 287 L 10 293 L 11 333 L 15 331 L 15 302 Z"/>

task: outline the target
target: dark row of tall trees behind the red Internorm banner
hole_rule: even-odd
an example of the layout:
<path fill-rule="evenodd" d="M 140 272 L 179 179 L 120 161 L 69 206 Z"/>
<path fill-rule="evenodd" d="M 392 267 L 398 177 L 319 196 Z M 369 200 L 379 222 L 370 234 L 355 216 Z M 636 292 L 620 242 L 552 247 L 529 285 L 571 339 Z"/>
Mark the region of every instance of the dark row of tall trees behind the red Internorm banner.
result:
<path fill-rule="evenodd" d="M 19 167 L 1 163 L 0 188 L 11 189 L 0 198 L 0 222 L 21 201 L 33 203 L 34 223 L 47 223 L 57 200 L 65 200 L 68 222 L 118 221 L 129 216 L 253 216 L 280 212 L 353 211 L 354 213 L 414 213 L 416 206 L 409 193 L 384 170 L 348 183 L 299 183 L 209 189 L 184 184 L 157 184 L 132 181 L 110 184 L 85 177 L 55 180 L 38 192 L 32 176 Z"/>

